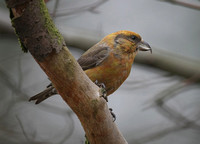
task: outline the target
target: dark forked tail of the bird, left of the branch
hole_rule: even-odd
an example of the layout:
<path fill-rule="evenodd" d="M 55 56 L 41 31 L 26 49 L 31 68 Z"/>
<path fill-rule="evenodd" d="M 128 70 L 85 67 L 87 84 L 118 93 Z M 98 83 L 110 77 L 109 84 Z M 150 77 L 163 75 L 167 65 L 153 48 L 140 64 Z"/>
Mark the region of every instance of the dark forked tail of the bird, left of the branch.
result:
<path fill-rule="evenodd" d="M 45 100 L 45 99 L 47 99 L 47 98 L 49 98 L 50 96 L 53 96 L 53 95 L 55 95 L 55 94 L 57 94 L 56 89 L 54 88 L 54 86 L 49 85 L 49 86 L 47 86 L 47 88 L 46 88 L 44 91 L 42 91 L 42 92 L 40 92 L 40 93 L 38 93 L 38 94 L 32 96 L 32 97 L 29 99 L 29 101 L 36 100 L 35 104 L 39 104 L 39 103 L 41 103 L 43 100 Z"/>

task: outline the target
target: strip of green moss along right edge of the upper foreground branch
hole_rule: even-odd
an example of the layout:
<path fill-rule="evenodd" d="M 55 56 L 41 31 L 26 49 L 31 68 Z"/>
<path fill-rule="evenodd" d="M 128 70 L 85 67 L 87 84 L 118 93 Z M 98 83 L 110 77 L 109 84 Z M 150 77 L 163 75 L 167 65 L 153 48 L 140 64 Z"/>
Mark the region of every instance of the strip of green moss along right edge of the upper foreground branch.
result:
<path fill-rule="evenodd" d="M 43 15 L 43 19 L 45 20 L 45 27 L 46 27 L 48 33 L 50 34 L 50 36 L 53 39 L 57 40 L 58 44 L 62 45 L 63 37 L 60 34 L 60 32 L 58 31 L 58 29 L 55 27 L 50 15 L 49 15 L 48 9 L 44 3 L 44 0 L 40 0 L 40 9 L 41 9 L 40 11 Z"/>

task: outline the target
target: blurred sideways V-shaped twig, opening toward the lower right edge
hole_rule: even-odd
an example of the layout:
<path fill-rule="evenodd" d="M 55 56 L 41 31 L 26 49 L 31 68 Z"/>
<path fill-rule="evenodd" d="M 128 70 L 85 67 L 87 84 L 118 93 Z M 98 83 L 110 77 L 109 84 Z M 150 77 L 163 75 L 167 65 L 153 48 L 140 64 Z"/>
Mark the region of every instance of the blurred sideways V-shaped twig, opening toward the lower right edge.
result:
<path fill-rule="evenodd" d="M 194 75 L 193 77 L 185 79 L 179 82 L 178 84 L 175 84 L 169 87 L 168 89 L 162 91 L 161 93 L 159 93 L 154 100 L 158 112 L 160 112 L 165 117 L 169 118 L 169 120 L 174 121 L 181 127 L 197 128 L 200 130 L 200 126 L 197 125 L 194 121 L 187 119 L 181 113 L 175 111 L 166 104 L 167 100 L 176 96 L 178 93 L 183 92 L 183 90 L 186 90 L 183 88 L 191 84 L 194 84 L 199 80 L 200 80 L 200 74 Z"/>

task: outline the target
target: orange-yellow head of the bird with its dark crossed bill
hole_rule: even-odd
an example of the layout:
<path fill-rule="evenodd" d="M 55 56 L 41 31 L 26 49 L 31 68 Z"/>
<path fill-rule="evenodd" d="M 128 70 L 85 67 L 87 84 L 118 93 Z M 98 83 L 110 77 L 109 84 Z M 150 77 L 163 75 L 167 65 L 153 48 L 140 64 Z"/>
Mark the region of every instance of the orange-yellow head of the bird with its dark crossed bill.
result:
<path fill-rule="evenodd" d="M 150 45 L 135 32 L 122 30 L 107 37 L 108 41 L 114 43 L 114 49 L 117 48 L 122 52 L 137 54 L 138 51 L 150 51 L 152 53 Z"/>

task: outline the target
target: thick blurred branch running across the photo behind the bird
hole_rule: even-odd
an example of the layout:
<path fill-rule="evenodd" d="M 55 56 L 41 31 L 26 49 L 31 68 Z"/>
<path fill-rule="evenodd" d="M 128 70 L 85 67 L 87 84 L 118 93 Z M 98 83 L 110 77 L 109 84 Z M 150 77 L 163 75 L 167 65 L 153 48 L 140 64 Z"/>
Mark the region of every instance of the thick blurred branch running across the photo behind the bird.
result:
<path fill-rule="evenodd" d="M 12 27 L 10 27 L 9 19 L 7 18 L 8 15 L 2 10 L 0 10 L 0 15 L 2 15 L 0 19 L 0 29 L 2 28 L 8 33 L 13 34 L 14 31 Z M 102 38 L 102 36 L 95 34 L 93 31 L 62 26 L 60 26 L 59 29 L 62 31 L 67 46 L 80 48 L 82 50 L 87 50 Z M 148 53 L 140 55 L 139 53 L 135 62 L 154 66 L 184 77 L 200 74 L 199 60 L 190 59 L 155 47 L 153 47 L 153 55 Z"/>

